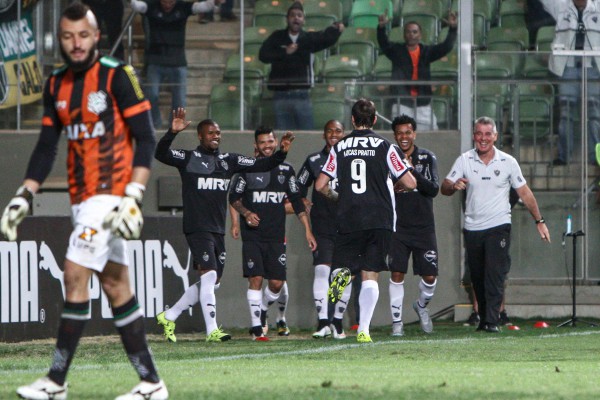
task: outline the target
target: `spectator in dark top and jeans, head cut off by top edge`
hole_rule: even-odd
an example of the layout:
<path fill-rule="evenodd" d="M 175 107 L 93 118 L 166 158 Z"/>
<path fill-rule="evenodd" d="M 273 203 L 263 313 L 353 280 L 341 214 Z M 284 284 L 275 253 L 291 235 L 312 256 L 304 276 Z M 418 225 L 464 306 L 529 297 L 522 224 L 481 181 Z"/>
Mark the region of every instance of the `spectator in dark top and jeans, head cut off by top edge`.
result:
<path fill-rule="evenodd" d="M 171 110 L 185 108 L 187 86 L 187 61 L 185 58 L 185 25 L 192 14 L 211 11 L 220 0 L 139 1 L 131 0 L 131 8 L 144 14 L 147 19 L 149 36 L 144 53 L 146 64 L 145 89 L 152 104 L 152 122 L 159 129 L 162 126 L 158 95 L 160 85 L 169 83 L 171 90 Z"/>

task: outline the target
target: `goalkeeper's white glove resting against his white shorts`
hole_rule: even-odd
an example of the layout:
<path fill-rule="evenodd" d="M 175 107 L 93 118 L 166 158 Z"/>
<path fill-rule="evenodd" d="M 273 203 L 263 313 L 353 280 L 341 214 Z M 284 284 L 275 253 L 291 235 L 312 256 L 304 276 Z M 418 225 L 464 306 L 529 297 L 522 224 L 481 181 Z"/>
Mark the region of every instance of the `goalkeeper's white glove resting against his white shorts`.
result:
<path fill-rule="evenodd" d="M 121 204 L 104 218 L 104 226 L 124 239 L 139 239 L 144 226 L 140 205 L 145 189 L 144 185 L 137 182 L 127 184 Z"/>

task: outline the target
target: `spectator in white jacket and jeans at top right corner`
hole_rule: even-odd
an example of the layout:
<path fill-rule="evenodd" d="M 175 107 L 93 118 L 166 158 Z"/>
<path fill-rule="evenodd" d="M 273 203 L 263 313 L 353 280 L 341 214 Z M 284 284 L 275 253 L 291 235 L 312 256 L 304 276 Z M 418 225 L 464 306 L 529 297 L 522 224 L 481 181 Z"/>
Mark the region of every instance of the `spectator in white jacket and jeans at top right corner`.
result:
<path fill-rule="evenodd" d="M 540 0 L 556 20 L 553 49 L 600 49 L 600 5 L 588 0 Z M 582 100 L 581 76 L 585 63 L 587 73 L 588 161 L 595 163 L 595 147 L 600 142 L 600 57 L 567 57 L 550 55 L 549 68 L 564 80 L 558 87 L 560 123 L 558 125 L 558 157 L 554 165 L 566 165 L 573 152 L 573 115 Z M 571 82 L 567 82 L 571 81 Z M 578 82 L 579 81 L 579 82 Z"/>

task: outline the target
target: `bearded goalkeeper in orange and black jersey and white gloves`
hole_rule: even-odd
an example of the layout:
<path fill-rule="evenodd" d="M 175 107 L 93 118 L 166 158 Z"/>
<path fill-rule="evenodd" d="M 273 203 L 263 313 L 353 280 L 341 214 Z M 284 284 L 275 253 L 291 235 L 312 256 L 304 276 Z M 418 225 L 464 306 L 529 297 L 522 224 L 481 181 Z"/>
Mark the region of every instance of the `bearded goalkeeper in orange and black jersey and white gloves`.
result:
<path fill-rule="evenodd" d="M 140 237 L 139 207 L 156 145 L 150 103 L 130 65 L 98 54 L 100 31 L 87 6 L 75 2 L 65 9 L 58 39 L 65 65 L 45 84 L 39 140 L 23 185 L 4 210 L 0 230 L 8 240 L 17 239 L 17 226 L 52 168 L 64 131 L 74 224 L 64 265 L 66 298 L 50 371 L 17 393 L 25 399 L 67 397 L 66 375 L 90 318 L 88 288 L 96 274 L 141 381 L 119 399 L 166 399 L 127 270 L 126 240 Z"/>

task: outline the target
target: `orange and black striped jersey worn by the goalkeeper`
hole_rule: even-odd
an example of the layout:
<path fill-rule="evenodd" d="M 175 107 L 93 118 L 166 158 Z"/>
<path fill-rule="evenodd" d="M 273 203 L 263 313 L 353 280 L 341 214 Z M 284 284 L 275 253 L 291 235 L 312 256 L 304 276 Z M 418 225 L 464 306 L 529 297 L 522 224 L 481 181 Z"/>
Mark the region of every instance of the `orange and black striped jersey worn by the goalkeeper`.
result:
<path fill-rule="evenodd" d="M 108 57 L 82 72 L 61 68 L 44 95 L 42 125 L 64 130 L 69 141 L 71 204 L 97 194 L 122 196 L 134 155 L 125 118 L 150 109 L 133 68 Z"/>

